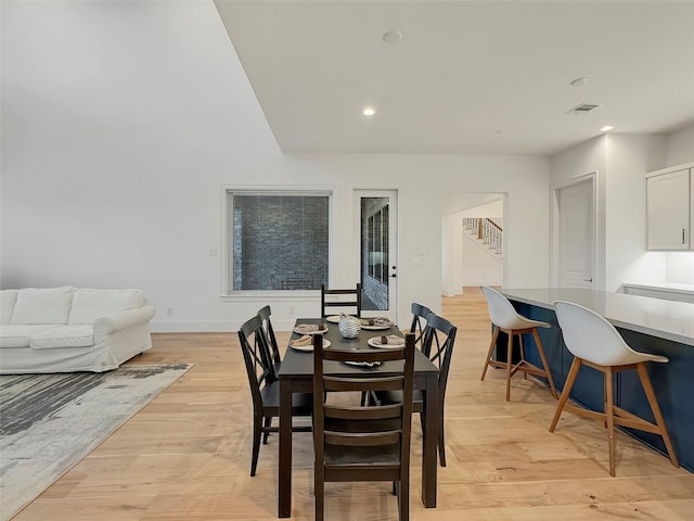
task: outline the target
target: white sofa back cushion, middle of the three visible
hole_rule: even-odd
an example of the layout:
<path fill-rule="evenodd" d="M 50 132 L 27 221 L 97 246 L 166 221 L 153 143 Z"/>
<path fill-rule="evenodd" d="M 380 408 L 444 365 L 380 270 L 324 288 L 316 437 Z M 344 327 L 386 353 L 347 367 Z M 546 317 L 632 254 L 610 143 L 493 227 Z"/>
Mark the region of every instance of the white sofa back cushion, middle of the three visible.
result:
<path fill-rule="evenodd" d="M 74 292 L 74 288 L 22 289 L 10 323 L 67 323 Z"/>

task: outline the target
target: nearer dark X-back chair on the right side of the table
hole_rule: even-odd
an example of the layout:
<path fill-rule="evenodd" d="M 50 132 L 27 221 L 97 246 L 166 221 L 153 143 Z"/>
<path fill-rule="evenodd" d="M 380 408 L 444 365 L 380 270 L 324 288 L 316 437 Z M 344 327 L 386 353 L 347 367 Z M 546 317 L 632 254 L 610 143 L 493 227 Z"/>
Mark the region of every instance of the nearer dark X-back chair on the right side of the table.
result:
<path fill-rule="evenodd" d="M 426 327 L 422 335 L 421 350 L 429 360 L 438 367 L 438 417 L 440 423 L 438 425 L 438 458 L 441 467 L 446 467 L 446 436 L 444 410 L 446 404 L 446 386 L 448 384 L 448 373 L 451 366 L 451 356 L 453 355 L 453 345 L 455 344 L 455 333 L 458 328 L 445 318 L 434 313 L 429 313 L 426 317 Z M 400 399 L 400 394 L 393 391 L 380 391 L 371 393 L 371 401 L 375 404 L 390 404 Z M 422 430 L 426 422 L 424 417 L 424 395 L 422 391 L 415 390 L 413 395 L 412 410 L 420 414 Z"/>

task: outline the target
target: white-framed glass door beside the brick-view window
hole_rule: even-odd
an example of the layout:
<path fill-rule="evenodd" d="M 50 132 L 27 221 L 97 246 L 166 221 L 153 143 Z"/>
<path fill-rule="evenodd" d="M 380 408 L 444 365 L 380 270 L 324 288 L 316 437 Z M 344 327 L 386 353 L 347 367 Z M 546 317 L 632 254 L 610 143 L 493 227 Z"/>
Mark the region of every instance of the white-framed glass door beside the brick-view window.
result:
<path fill-rule="evenodd" d="M 361 307 L 364 317 L 397 320 L 398 192 L 356 190 Z"/>

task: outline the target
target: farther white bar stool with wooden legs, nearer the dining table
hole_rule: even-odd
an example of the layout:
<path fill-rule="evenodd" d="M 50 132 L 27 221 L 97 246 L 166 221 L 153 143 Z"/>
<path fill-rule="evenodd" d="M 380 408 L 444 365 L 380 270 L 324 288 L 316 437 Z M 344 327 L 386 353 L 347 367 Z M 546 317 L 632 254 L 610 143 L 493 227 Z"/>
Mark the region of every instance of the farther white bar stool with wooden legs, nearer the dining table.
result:
<path fill-rule="evenodd" d="M 491 335 L 491 344 L 489 344 L 489 351 L 487 352 L 487 360 L 485 368 L 481 371 L 481 380 L 487 374 L 487 368 L 489 366 L 497 368 L 504 368 L 506 370 L 506 402 L 511 398 L 511 377 L 516 372 L 523 372 L 527 379 L 527 374 L 535 374 L 536 377 L 547 378 L 550 384 L 550 392 L 552 396 L 557 397 L 556 389 L 554 389 L 554 381 L 552 380 L 552 373 L 550 372 L 550 366 L 547 363 L 544 356 L 544 348 L 542 347 L 542 341 L 538 333 L 538 328 L 549 328 L 550 325 L 541 322 L 539 320 L 530 320 L 529 318 L 518 315 L 509 300 L 499 293 L 497 290 L 492 290 L 489 287 L 483 285 L 481 291 L 487 298 L 487 306 L 489 308 L 489 318 L 494 326 L 493 333 Z M 499 332 L 503 331 L 509 335 L 509 346 L 506 348 L 506 361 L 499 361 L 493 359 L 493 352 L 497 345 L 497 339 Z M 525 333 L 532 333 L 535 339 L 535 345 L 538 348 L 538 354 L 542 360 L 544 369 L 530 364 L 525 359 L 525 348 L 523 346 L 523 335 Z M 513 364 L 513 338 L 517 335 L 520 345 L 520 360 L 517 364 Z"/>

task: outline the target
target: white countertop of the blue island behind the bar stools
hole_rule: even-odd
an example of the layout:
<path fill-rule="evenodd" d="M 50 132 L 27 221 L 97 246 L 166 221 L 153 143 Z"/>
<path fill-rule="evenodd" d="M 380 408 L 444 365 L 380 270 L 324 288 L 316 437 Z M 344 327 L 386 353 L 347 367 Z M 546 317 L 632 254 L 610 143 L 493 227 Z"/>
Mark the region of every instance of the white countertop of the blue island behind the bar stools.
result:
<path fill-rule="evenodd" d="M 555 301 L 586 306 L 615 327 L 694 345 L 694 304 L 587 288 L 503 288 L 512 301 L 554 309 Z"/>

